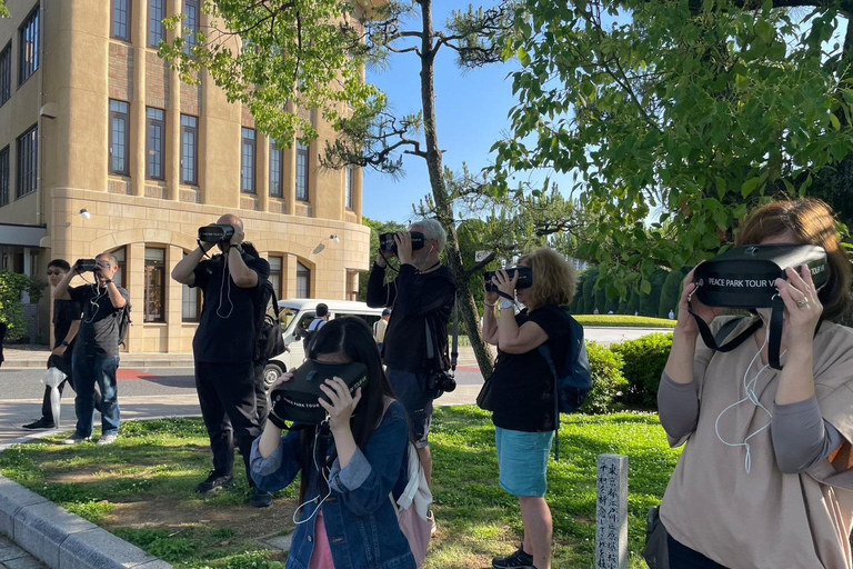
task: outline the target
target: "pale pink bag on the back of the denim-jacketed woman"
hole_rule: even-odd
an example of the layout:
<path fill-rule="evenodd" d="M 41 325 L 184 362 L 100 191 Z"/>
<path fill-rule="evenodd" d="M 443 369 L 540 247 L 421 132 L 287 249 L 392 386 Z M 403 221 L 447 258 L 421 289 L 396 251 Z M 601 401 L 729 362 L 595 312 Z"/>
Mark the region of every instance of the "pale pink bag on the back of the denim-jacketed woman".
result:
<path fill-rule="evenodd" d="M 426 549 L 430 547 L 432 536 L 433 518 L 430 511 L 432 492 L 426 485 L 426 476 L 423 473 L 423 467 L 418 458 L 418 449 L 411 442 L 409 443 L 408 472 L 409 483 L 403 493 L 395 502 L 393 496 L 390 497 L 397 510 L 400 530 L 409 540 L 414 562 L 421 567 L 423 560 L 426 559 Z"/>

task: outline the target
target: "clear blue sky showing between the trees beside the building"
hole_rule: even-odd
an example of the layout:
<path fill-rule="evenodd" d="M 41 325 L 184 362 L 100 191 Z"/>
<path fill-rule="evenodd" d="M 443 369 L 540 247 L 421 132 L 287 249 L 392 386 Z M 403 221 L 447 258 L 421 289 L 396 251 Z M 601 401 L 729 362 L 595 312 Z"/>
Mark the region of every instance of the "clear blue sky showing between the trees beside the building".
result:
<path fill-rule="evenodd" d="M 466 4 L 436 0 L 435 28 L 442 29 L 451 10 L 462 6 Z M 412 21 L 405 29 L 415 29 L 418 23 Z M 462 162 L 466 162 L 472 172 L 478 172 L 489 164 L 489 149 L 509 130 L 506 114 L 515 99 L 508 74 L 518 63 L 463 71 L 456 67 L 454 54 L 444 47 L 435 61 L 439 144 L 444 150 L 444 166 L 461 171 Z M 418 56 L 392 54 L 387 69 L 368 70 L 368 81 L 382 89 L 394 113 L 402 116 L 421 109 L 419 73 Z M 405 157 L 404 170 L 405 174 L 398 180 L 364 170 L 364 216 L 398 222 L 413 217 L 412 204 L 430 192 L 426 162 L 419 157 Z"/>

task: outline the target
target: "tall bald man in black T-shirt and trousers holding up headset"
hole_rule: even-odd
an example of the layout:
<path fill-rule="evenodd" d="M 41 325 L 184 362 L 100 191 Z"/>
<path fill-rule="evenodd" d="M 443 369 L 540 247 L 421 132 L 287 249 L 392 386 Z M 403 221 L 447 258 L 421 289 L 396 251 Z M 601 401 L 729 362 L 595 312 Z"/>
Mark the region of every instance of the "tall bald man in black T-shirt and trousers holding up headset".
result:
<path fill-rule="evenodd" d="M 172 279 L 200 287 L 204 295 L 199 328 L 192 341 L 195 388 L 210 436 L 213 471 L 195 487 L 211 493 L 233 482 L 234 438 L 252 488 L 251 503 L 272 505 L 272 495 L 255 488 L 249 476 L 252 441 L 261 433 L 255 407 L 254 349 L 258 307 L 270 264 L 243 251 L 243 222 L 234 214 L 199 229 L 199 247 L 172 270 Z M 208 250 L 222 254 L 209 260 Z"/>

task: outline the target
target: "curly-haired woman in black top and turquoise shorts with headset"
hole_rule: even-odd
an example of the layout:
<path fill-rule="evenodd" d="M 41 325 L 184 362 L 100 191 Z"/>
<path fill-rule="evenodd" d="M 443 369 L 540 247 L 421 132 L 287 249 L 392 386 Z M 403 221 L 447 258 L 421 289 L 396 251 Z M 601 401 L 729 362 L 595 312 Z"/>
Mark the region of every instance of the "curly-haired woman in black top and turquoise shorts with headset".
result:
<path fill-rule="evenodd" d="M 524 526 L 521 547 L 494 558 L 492 566 L 550 569 L 553 522 L 544 497 L 554 438 L 554 376 L 539 347 L 548 342 L 553 361 L 565 361 L 571 325 L 561 307 L 574 297 L 575 273 L 551 249 L 522 257 L 519 266 L 533 270 L 532 286 L 515 290 L 518 271 L 496 271 L 492 283 L 500 293 L 486 290 L 483 315 L 483 339 L 499 350 L 489 379 L 489 408 L 495 426 L 500 482 L 519 499 Z M 525 306 L 518 315 L 510 300 L 513 295 Z"/>

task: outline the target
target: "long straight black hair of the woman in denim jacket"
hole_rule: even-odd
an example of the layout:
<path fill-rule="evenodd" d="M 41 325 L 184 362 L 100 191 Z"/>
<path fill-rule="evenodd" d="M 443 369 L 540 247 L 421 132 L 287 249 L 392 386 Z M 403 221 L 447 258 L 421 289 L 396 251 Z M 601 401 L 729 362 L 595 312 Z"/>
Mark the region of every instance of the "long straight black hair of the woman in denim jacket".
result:
<path fill-rule="evenodd" d="M 373 431 L 382 422 L 385 398 L 393 399 L 394 391 L 391 389 L 391 383 L 382 368 L 382 358 L 379 355 L 377 341 L 373 339 L 373 332 L 361 318 L 337 318 L 323 326 L 311 340 L 307 356 L 314 359 L 318 355 L 333 353 L 342 355 L 349 361 L 363 363 L 368 368 L 368 383 L 361 388 L 361 401 L 359 401 L 359 407 L 350 419 L 355 445 L 363 449 Z M 305 429 L 300 436 L 303 465 L 299 488 L 300 503 L 305 501 L 308 495 L 310 477 L 305 467 L 313 462 L 315 435 L 317 428 Z M 320 457 L 321 461 L 324 459 L 325 457 Z M 321 479 L 318 479 L 318 482 L 325 483 Z"/>

